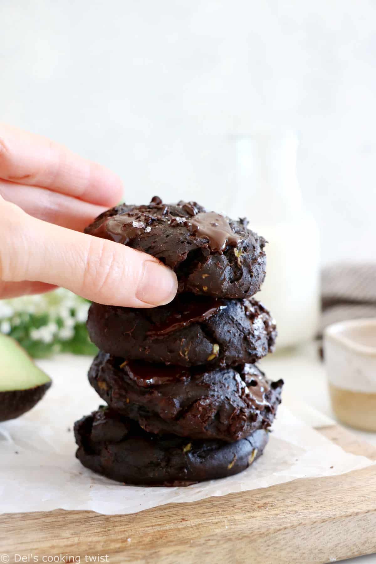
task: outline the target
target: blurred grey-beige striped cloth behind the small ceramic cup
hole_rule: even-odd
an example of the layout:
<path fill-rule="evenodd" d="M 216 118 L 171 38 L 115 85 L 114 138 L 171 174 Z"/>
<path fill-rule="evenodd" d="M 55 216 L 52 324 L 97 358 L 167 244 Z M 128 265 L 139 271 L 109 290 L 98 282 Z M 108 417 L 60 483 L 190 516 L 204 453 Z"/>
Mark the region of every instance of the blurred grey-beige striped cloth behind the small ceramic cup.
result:
<path fill-rule="evenodd" d="M 325 267 L 321 276 L 321 332 L 346 319 L 376 318 L 376 264 Z"/>

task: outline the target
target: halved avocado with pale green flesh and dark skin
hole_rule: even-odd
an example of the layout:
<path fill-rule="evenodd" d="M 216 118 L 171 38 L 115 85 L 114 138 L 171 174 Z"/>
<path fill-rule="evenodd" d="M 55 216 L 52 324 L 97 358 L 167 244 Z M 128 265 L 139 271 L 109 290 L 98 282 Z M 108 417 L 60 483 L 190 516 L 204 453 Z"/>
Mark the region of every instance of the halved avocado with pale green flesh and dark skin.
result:
<path fill-rule="evenodd" d="M 51 378 L 11 337 L 0 334 L 0 421 L 23 415 L 43 398 Z"/>

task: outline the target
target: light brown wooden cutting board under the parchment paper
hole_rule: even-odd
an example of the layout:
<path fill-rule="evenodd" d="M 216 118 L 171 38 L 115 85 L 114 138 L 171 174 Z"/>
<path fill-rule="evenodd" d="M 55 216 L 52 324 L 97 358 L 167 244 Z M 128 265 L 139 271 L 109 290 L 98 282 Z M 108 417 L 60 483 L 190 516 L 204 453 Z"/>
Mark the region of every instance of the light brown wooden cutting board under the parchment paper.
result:
<path fill-rule="evenodd" d="M 347 452 L 376 460 L 375 447 L 343 428 L 333 425 L 320 432 Z M 131 515 L 56 510 L 0 518 L 0 553 L 9 554 L 9 562 L 22 561 L 14 557 L 18 554 L 29 558 L 24 562 L 42 562 L 43 556 L 85 562 L 99 555 L 102 560 L 96 562 L 111 564 L 308 564 L 373 552 L 372 466 Z M 0 556 L 0 562 L 7 560 Z"/>

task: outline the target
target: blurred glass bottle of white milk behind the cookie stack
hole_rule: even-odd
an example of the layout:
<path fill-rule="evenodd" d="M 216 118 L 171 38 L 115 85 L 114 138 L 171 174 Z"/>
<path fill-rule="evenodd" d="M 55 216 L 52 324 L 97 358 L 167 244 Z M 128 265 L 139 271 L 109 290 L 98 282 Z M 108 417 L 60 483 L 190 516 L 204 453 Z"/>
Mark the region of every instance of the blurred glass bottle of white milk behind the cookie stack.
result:
<path fill-rule="evenodd" d="M 294 133 L 236 139 L 241 215 L 265 237 L 266 279 L 255 298 L 276 319 L 277 349 L 315 337 L 319 325 L 319 230 L 304 209 Z"/>

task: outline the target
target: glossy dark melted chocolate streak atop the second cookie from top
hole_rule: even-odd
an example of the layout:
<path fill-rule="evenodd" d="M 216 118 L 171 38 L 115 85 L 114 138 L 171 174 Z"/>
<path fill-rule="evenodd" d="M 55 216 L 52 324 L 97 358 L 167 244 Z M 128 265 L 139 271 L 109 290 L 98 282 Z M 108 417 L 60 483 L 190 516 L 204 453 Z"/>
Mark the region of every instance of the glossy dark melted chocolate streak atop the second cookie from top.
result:
<path fill-rule="evenodd" d="M 176 302 L 176 311 L 174 311 L 164 323 L 148 331 L 147 335 L 151 337 L 162 337 L 172 331 L 183 329 L 192 323 L 205 321 L 225 307 L 227 306 L 222 300 L 215 298 L 205 297 L 204 299 L 200 299 L 199 297 L 194 297 L 193 300 L 189 302 L 180 300 L 180 302 Z"/>

